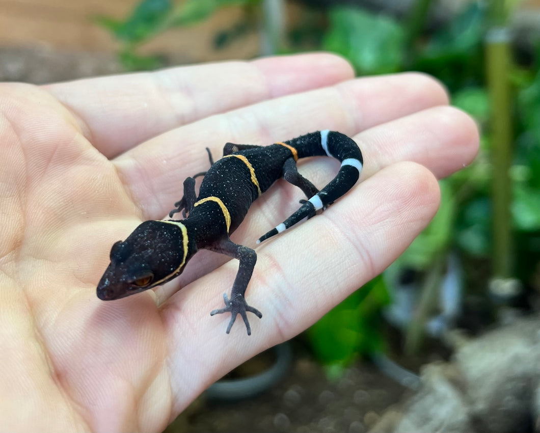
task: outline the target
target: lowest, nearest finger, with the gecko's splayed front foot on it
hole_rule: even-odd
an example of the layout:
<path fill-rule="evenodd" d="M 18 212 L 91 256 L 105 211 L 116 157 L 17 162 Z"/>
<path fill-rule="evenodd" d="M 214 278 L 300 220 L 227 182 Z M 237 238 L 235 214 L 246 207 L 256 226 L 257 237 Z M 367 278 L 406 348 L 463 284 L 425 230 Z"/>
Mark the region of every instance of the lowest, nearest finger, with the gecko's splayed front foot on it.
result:
<path fill-rule="evenodd" d="M 247 298 L 263 317 L 252 320 L 250 337 L 241 326 L 226 335 L 229 318 L 208 314 L 220 305 L 222 289 L 232 284 L 236 263 L 171 297 L 162 317 L 171 337 L 174 411 L 239 363 L 306 329 L 382 272 L 428 224 L 439 198 L 436 179 L 426 168 L 394 164 L 295 228 L 294 235 L 259 248 Z M 197 349 L 186 351 L 191 347 Z"/>

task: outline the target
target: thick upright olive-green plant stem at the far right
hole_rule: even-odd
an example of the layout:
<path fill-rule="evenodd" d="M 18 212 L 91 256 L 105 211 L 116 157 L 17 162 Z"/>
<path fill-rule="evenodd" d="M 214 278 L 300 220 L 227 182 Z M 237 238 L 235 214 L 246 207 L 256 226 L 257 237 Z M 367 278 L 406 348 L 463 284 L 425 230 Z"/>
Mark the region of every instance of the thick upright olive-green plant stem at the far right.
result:
<path fill-rule="evenodd" d="M 491 26 L 486 36 L 487 79 L 491 99 L 491 159 L 493 204 L 492 273 L 512 273 L 511 182 L 512 120 L 510 96 L 510 37 L 503 0 L 491 2 Z"/>

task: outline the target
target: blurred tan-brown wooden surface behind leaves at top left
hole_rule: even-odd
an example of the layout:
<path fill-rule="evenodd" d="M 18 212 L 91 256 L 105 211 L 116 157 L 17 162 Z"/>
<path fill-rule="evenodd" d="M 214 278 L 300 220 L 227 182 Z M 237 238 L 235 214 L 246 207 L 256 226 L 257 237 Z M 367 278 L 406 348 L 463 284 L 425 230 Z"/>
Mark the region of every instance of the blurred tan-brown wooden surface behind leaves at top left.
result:
<path fill-rule="evenodd" d="M 123 18 L 138 0 L 0 0 L 0 46 L 45 44 L 57 49 L 105 51 L 116 49 L 109 32 L 92 22 L 98 15 Z M 257 33 L 224 50 L 215 50 L 213 38 L 242 19 L 240 8 L 225 8 L 200 24 L 174 29 L 143 47 L 181 62 L 249 58 L 259 52 Z"/>

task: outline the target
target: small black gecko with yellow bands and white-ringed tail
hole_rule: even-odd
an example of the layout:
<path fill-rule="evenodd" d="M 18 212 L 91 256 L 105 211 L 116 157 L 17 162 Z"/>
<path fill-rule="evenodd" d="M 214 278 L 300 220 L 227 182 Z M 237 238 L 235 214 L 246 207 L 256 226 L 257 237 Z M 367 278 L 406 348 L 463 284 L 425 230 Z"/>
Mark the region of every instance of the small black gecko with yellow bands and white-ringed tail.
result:
<path fill-rule="evenodd" d="M 350 190 L 362 171 L 362 153 L 349 137 L 333 131 L 318 131 L 271 146 L 227 143 L 223 158 L 210 169 L 184 181 L 184 197 L 170 213 L 183 212 L 183 220 L 150 220 L 140 224 L 125 241 L 114 243 L 111 263 L 97 287 L 104 301 L 130 296 L 166 283 L 180 275 L 199 249 L 210 249 L 240 261 L 231 299 L 224 294 L 225 308 L 210 314 L 230 312 L 227 327 L 231 330 L 238 314 L 244 319 L 247 334 L 251 328 L 246 312 L 259 318 L 259 310 L 247 305 L 244 298 L 253 273 L 257 254 L 251 248 L 237 245 L 229 235 L 240 225 L 247 209 L 279 178 L 298 186 L 309 198 L 289 218 L 257 241 L 285 231 L 303 218 L 311 218 Z M 328 155 L 341 161 L 336 177 L 319 191 L 296 168 L 299 158 Z M 204 175 L 195 193 L 195 177 Z M 186 218 L 187 214 L 187 218 Z"/>

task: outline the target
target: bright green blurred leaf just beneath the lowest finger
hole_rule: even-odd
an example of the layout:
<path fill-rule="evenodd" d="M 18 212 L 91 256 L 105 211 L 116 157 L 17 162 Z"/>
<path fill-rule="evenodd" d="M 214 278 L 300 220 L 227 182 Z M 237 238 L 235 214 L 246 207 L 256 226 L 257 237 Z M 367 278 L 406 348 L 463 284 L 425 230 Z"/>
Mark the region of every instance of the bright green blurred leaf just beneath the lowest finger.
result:
<path fill-rule="evenodd" d="M 315 355 L 325 364 L 345 365 L 358 355 L 381 350 L 377 323 L 389 302 L 382 276 L 356 290 L 307 330 Z"/>

